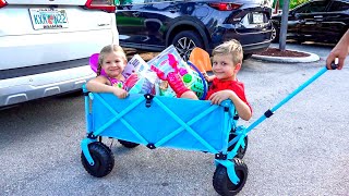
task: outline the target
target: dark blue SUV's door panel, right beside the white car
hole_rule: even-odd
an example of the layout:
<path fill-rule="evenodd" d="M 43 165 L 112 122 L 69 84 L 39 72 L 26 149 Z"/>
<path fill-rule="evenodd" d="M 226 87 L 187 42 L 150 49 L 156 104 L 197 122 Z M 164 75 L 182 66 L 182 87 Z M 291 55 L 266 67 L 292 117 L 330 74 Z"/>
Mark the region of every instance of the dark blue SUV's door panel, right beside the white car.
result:
<path fill-rule="evenodd" d="M 117 27 L 122 47 L 141 49 L 146 41 L 143 10 L 147 0 L 120 0 L 117 4 Z"/>

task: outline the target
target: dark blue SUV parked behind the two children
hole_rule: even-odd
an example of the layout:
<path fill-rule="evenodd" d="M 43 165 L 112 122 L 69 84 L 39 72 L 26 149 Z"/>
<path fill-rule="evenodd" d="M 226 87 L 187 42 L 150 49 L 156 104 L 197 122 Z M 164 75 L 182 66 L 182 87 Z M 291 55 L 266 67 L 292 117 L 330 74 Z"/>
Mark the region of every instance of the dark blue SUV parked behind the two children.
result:
<path fill-rule="evenodd" d="M 116 1 L 118 4 L 119 1 Z M 241 42 L 245 58 L 270 45 L 272 9 L 257 0 L 124 0 L 117 7 L 120 45 L 161 51 L 174 45 L 184 60 L 194 47 L 210 52 Z"/>

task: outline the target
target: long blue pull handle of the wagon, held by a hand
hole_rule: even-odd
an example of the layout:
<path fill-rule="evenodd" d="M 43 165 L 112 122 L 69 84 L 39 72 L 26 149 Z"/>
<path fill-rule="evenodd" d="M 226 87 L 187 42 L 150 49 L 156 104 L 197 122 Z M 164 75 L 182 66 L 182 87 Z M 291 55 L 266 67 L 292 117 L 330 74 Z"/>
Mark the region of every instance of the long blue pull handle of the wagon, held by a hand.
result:
<path fill-rule="evenodd" d="M 332 69 L 337 69 L 338 64 L 332 63 Z M 299 94 L 301 90 L 303 90 L 308 85 L 313 83 L 316 78 L 318 78 L 321 75 L 323 75 L 327 71 L 327 66 L 321 69 L 315 75 L 313 75 L 310 79 L 308 79 L 305 83 L 300 85 L 296 90 L 293 90 L 290 95 L 288 95 L 284 100 L 281 100 L 278 105 L 276 105 L 274 108 L 267 110 L 262 117 L 260 117 L 256 121 L 254 121 L 249 127 L 245 128 L 244 133 L 248 134 L 251 132 L 255 126 L 257 126 L 261 122 L 266 120 L 266 118 L 269 118 L 274 114 L 276 110 L 278 110 L 281 106 L 284 106 L 286 102 L 288 102 L 292 97 L 294 97 L 297 94 Z"/>

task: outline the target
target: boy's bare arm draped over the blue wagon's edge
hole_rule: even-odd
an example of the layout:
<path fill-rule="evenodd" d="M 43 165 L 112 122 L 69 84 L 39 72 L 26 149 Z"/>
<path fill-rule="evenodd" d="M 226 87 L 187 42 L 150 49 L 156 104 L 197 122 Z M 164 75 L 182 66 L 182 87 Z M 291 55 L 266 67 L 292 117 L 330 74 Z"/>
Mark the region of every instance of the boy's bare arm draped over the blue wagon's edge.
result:
<path fill-rule="evenodd" d="M 238 111 L 238 114 L 241 119 L 245 121 L 249 121 L 251 119 L 252 112 L 250 107 L 243 100 L 241 100 L 234 91 L 230 89 L 217 91 L 208 98 L 208 100 L 210 100 L 214 105 L 219 105 L 226 99 L 230 99 L 233 102 L 236 110 Z"/>

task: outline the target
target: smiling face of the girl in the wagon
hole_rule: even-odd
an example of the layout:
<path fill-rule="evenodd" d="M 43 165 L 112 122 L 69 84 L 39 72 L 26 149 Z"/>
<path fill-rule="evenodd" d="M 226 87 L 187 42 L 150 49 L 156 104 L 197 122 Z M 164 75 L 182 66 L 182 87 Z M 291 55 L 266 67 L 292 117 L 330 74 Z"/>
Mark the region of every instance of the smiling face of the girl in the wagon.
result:
<path fill-rule="evenodd" d="M 125 57 L 122 52 L 106 53 L 101 63 L 101 68 L 105 70 L 109 77 L 119 78 L 127 64 Z"/>

